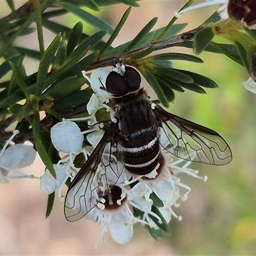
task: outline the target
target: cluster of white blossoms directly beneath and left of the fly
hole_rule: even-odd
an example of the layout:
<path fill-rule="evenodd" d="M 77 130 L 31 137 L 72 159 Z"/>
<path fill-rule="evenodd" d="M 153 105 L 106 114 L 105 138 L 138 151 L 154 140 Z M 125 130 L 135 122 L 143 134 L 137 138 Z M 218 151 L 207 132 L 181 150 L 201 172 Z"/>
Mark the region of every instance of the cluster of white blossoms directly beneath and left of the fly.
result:
<path fill-rule="evenodd" d="M 108 74 L 108 70 L 104 68 L 95 70 L 90 78 L 84 74 L 86 79 L 90 81 L 95 93 L 93 93 L 87 106 L 90 116 L 79 118 L 79 120 L 88 120 L 90 125 L 97 124 L 95 118 L 97 110 L 106 108 L 106 111 L 111 111 L 108 106 L 109 94 L 100 89 L 104 86 Z M 80 170 L 80 168 L 77 168 L 74 164 L 76 156 L 82 153 L 86 161 L 104 134 L 104 131 L 99 129 L 100 125 L 93 125 L 92 127 L 93 129 L 81 132 L 74 120 L 63 120 L 63 122 L 52 127 L 51 139 L 54 147 L 56 147 L 59 152 L 64 152 L 68 155 L 63 157 L 58 164 L 54 164 L 56 179 L 46 170 L 40 180 L 40 188 L 42 191 L 52 193 L 56 189 L 59 189 L 60 198 L 63 198 L 61 190 L 65 182 L 69 177 L 71 180 L 74 179 L 77 172 Z M 86 140 L 90 143 L 90 146 L 83 146 L 84 133 L 88 133 Z M 162 141 L 161 143 L 164 142 Z M 196 175 L 195 170 L 188 168 L 189 162 L 182 163 L 184 162 L 182 160 L 173 161 L 170 154 L 163 153 L 163 155 L 166 162 L 164 168 L 161 172 L 152 174 L 152 177 L 136 176 L 131 175 L 129 172 L 123 172 L 117 182 L 112 182 L 114 187 L 104 198 L 98 193 L 93 193 L 91 196 L 88 196 L 90 198 L 85 198 L 88 204 L 95 202 L 95 207 L 93 207 L 92 211 L 88 213 L 85 209 L 81 209 L 81 211 L 87 213 L 85 215 L 86 218 L 99 224 L 101 231 L 99 241 L 106 232 L 110 232 L 116 242 L 123 244 L 131 239 L 134 223 L 148 225 L 150 228 L 158 228 L 156 222 L 163 223 L 163 218 L 166 223 L 170 221 L 172 216 L 180 220 L 180 216 L 177 216 L 175 212 L 173 212 L 172 207 L 179 205 L 176 202 L 179 198 L 186 200 L 190 188 L 180 182 L 180 178 L 177 177 L 177 174 L 187 173 L 193 177 L 198 177 L 198 175 Z M 115 159 L 115 156 L 111 158 Z M 110 168 L 109 170 L 100 170 L 100 168 L 102 168 L 102 166 L 99 165 L 97 171 L 110 172 L 108 173 L 106 183 L 111 184 L 111 172 L 115 172 L 115 170 L 114 172 L 112 170 L 115 169 L 116 166 L 113 165 L 112 170 L 110 170 Z M 201 179 L 201 177 L 198 178 Z M 95 175 L 95 179 L 97 179 L 97 175 Z M 80 189 L 81 186 L 86 185 L 87 184 L 79 184 L 78 188 Z M 100 184 L 100 186 L 103 185 Z M 180 188 L 186 189 L 184 195 L 180 195 Z M 66 201 L 75 201 L 75 196 L 77 196 L 77 198 L 81 197 L 78 189 L 77 191 L 76 189 L 74 190 L 74 188 L 72 190 L 72 193 L 71 191 L 68 193 Z M 84 191 L 81 193 L 84 193 Z M 154 194 L 158 200 L 161 200 L 161 204 L 163 204 L 161 207 L 157 207 L 160 214 L 159 212 L 156 214 L 156 212 L 152 211 L 152 206 L 154 205 L 154 199 L 151 198 L 152 194 Z M 106 202 L 105 198 L 108 202 Z M 115 202 L 112 202 L 112 200 L 115 200 Z M 79 200 L 77 200 L 77 202 L 79 202 Z M 113 205 L 113 207 L 110 205 Z M 74 206 L 74 210 L 79 207 L 81 207 L 80 202 L 79 205 Z M 141 214 L 138 214 L 138 211 Z"/>

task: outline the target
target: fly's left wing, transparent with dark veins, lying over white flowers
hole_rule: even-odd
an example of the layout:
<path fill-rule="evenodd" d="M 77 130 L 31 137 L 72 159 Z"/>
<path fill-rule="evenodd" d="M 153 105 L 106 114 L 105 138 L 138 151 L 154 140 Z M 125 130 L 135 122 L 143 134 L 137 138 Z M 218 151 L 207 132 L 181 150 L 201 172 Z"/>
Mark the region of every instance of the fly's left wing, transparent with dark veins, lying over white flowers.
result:
<path fill-rule="evenodd" d="M 65 217 L 77 221 L 90 212 L 118 181 L 124 164 L 116 160 L 116 142 L 111 125 L 92 155 L 68 187 L 65 198 Z"/>

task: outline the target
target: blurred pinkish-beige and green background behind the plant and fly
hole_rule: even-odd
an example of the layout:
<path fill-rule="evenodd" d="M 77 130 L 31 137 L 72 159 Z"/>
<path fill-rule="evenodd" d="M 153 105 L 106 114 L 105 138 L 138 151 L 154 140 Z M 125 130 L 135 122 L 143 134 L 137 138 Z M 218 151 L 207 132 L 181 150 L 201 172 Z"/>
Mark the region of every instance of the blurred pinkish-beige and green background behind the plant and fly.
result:
<path fill-rule="evenodd" d="M 17 6 L 24 3 L 16 2 Z M 165 26 L 182 4 L 184 1 L 140 1 L 141 7 L 132 9 L 115 45 L 131 40 L 152 17 L 159 17 L 155 28 Z M 111 6 L 99 15 L 115 27 L 126 8 Z M 216 8 L 186 13 L 177 23 L 188 22 L 186 30 L 195 28 Z M 6 10 L 7 7 L 1 8 L 1 17 L 8 13 Z M 72 15 L 58 18 L 58 22 L 70 28 L 77 21 Z M 52 38 L 45 31 L 46 45 Z M 35 34 L 32 39 L 20 38 L 17 44 L 28 42 L 31 47 L 38 47 Z M 168 51 L 192 53 L 178 48 Z M 38 180 L 11 180 L 0 187 L 0 255 L 255 255 L 256 95 L 244 89 L 242 82 L 248 74 L 234 61 L 207 52 L 200 58 L 205 61 L 203 64 L 173 61 L 173 65 L 209 76 L 220 87 L 207 89 L 204 95 L 177 92 L 169 110 L 219 132 L 232 148 L 233 161 L 227 166 L 191 165 L 200 175 L 207 175 L 208 180 L 182 177 L 182 183 L 190 186 L 191 192 L 186 202 L 173 209 L 182 221 L 171 220 L 171 236 L 164 235 L 156 242 L 145 228 L 137 225 L 129 243 L 115 244 L 106 236 L 106 243 L 100 243 L 95 250 L 97 224 L 88 220 L 68 223 L 63 216 L 63 203 L 58 200 L 45 220 L 47 195 L 40 192 Z M 34 72 L 35 63 L 26 63 L 28 74 Z M 39 160 L 37 164 L 28 172 L 40 176 L 44 168 Z"/>

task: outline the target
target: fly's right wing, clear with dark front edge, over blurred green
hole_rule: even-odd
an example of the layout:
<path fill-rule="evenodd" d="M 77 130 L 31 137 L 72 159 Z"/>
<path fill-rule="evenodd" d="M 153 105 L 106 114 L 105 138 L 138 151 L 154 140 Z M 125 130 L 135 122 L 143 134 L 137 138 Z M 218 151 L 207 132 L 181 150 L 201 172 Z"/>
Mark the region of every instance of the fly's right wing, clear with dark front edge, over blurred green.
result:
<path fill-rule="evenodd" d="M 213 165 L 232 160 L 230 147 L 217 132 L 168 113 L 158 105 L 154 112 L 162 122 L 161 145 L 174 156 Z"/>

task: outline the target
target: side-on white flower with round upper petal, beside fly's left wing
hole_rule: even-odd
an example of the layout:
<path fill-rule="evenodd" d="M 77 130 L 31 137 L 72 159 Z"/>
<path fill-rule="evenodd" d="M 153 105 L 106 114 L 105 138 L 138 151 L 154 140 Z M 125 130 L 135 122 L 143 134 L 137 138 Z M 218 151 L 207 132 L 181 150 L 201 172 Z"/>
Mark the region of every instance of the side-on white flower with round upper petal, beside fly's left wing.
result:
<path fill-rule="evenodd" d="M 44 175 L 40 178 L 40 189 L 43 192 L 50 194 L 56 189 L 59 189 L 59 196 L 61 199 L 63 198 L 61 191 L 68 177 L 71 180 L 74 179 L 80 170 L 74 163 L 76 157 L 79 154 L 83 154 L 83 159 L 86 161 L 104 134 L 104 131 L 96 130 L 99 129 L 90 129 L 81 132 L 78 125 L 69 120 L 64 120 L 52 127 L 51 139 L 54 147 L 59 152 L 65 152 L 68 155 L 63 157 L 58 164 L 54 164 L 56 179 L 52 177 L 49 170 L 45 170 Z M 90 133 L 87 135 L 87 140 L 92 146 L 83 147 L 83 134 L 88 132 Z"/>

